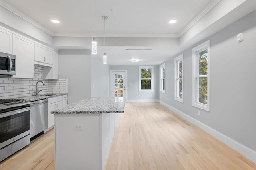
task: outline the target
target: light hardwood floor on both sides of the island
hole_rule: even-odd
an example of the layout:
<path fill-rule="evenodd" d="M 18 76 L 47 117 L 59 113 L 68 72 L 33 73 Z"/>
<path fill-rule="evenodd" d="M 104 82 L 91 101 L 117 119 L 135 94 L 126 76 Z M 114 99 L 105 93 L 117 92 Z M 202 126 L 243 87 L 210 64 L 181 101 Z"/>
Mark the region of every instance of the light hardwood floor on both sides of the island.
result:
<path fill-rule="evenodd" d="M 159 103 L 126 103 L 105 170 L 183 169 L 256 170 L 256 164 Z M 54 170 L 54 131 L 1 162 L 0 170 Z"/>

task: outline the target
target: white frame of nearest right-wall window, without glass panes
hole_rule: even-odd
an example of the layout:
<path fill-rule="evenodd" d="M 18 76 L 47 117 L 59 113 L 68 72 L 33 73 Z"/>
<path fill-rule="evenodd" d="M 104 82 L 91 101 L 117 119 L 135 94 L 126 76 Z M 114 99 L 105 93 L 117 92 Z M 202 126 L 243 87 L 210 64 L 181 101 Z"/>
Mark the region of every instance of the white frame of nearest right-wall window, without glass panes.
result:
<path fill-rule="evenodd" d="M 198 52 L 207 49 L 207 75 L 197 75 L 198 74 Z M 207 77 L 207 104 L 197 102 L 197 78 Z M 198 107 L 200 109 L 210 111 L 210 40 L 194 47 L 192 49 L 192 106 Z"/>

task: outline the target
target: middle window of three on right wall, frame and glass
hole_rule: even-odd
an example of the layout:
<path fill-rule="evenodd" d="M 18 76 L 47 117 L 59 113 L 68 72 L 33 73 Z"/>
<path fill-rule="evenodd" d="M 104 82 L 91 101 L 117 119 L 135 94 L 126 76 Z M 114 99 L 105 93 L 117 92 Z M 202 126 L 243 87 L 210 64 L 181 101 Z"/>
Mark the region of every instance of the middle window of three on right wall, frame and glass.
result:
<path fill-rule="evenodd" d="M 183 55 L 174 59 L 174 99 L 183 102 Z"/>

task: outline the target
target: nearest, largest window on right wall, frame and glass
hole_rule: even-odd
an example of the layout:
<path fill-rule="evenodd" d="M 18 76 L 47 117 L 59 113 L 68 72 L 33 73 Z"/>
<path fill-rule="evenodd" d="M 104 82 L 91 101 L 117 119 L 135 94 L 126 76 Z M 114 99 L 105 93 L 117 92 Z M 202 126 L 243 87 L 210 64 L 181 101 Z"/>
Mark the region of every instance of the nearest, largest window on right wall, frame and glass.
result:
<path fill-rule="evenodd" d="M 192 106 L 210 111 L 210 40 L 192 49 Z"/>

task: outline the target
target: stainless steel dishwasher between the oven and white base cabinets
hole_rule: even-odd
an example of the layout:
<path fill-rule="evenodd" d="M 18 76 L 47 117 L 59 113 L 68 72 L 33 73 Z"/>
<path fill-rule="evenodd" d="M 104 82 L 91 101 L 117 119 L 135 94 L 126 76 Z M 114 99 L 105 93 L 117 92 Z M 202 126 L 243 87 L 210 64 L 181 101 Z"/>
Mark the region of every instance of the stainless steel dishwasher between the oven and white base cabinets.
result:
<path fill-rule="evenodd" d="M 30 141 L 42 135 L 48 126 L 48 99 L 30 104 Z"/>

